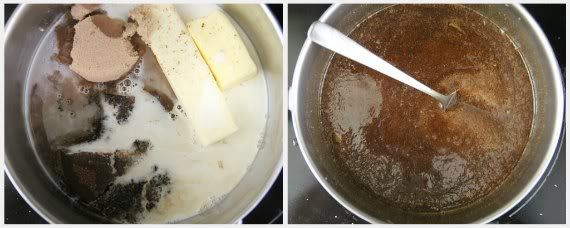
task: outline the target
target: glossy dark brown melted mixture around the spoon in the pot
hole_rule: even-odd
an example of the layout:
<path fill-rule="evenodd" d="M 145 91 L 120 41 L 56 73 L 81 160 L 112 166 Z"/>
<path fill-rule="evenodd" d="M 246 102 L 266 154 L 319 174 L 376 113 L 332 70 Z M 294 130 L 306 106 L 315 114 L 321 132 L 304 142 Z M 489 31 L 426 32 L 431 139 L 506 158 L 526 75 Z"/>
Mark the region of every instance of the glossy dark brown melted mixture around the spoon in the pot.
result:
<path fill-rule="evenodd" d="M 397 5 L 349 35 L 460 103 L 431 97 L 335 55 L 322 122 L 341 166 L 380 200 L 408 211 L 466 206 L 515 167 L 533 117 L 528 71 L 490 20 L 453 5 Z"/>

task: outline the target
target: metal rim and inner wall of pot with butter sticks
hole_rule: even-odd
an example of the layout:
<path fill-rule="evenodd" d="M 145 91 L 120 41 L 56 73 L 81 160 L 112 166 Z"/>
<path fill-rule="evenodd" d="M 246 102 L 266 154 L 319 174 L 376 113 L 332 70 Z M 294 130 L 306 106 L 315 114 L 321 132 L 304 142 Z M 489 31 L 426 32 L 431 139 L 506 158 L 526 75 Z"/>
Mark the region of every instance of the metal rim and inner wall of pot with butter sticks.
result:
<path fill-rule="evenodd" d="M 247 215 L 275 181 L 282 167 L 282 35 L 263 5 L 222 5 L 255 46 L 268 87 L 268 121 L 264 141 L 249 172 L 219 204 L 181 223 L 235 223 Z M 5 166 L 18 192 L 50 223 L 99 223 L 104 220 L 73 203 L 56 187 L 36 157 L 29 135 L 25 103 L 28 70 L 37 45 L 63 13 L 62 5 L 22 5 L 6 25 L 5 34 Z M 9 57 L 8 57 L 9 56 Z"/>

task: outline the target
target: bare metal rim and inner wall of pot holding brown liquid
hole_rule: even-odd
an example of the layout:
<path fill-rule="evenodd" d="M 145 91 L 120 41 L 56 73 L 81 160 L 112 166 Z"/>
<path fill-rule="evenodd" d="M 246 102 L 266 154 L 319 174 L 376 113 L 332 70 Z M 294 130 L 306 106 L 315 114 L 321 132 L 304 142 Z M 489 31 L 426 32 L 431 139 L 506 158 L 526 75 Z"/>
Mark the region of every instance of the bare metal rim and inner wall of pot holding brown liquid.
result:
<path fill-rule="evenodd" d="M 333 5 L 320 21 L 347 34 L 371 13 L 385 5 Z M 377 202 L 352 180 L 338 174 L 321 140 L 319 91 L 332 57 L 310 41 L 295 67 L 289 107 L 299 147 L 321 185 L 351 212 L 375 223 L 485 223 L 516 205 L 536 185 L 552 159 L 562 129 L 564 97 L 556 59 L 541 29 L 520 5 L 469 5 L 501 27 L 521 52 L 529 68 L 535 93 L 535 116 L 529 143 L 519 164 L 504 184 L 487 197 L 446 214 L 415 214 Z"/>

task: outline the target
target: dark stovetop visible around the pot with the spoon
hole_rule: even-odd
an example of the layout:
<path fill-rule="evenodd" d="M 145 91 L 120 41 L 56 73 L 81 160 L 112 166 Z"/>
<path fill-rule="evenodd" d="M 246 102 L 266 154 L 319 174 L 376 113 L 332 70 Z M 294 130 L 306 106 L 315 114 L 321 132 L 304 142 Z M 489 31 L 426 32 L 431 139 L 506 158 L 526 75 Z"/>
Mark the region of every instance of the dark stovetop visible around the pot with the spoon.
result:
<path fill-rule="evenodd" d="M 306 33 L 313 21 L 318 20 L 329 5 L 289 5 L 289 86 L 297 56 L 303 46 Z M 565 6 L 525 5 L 546 33 L 561 66 L 565 63 Z M 289 223 L 366 223 L 330 196 L 317 182 L 305 163 L 297 141 L 289 113 Z M 529 197 L 493 223 L 565 223 L 566 222 L 566 139 L 550 165 L 542 187 L 535 188 Z M 555 155 L 555 156 L 556 156 Z M 534 197 L 532 197 L 532 195 Z"/>

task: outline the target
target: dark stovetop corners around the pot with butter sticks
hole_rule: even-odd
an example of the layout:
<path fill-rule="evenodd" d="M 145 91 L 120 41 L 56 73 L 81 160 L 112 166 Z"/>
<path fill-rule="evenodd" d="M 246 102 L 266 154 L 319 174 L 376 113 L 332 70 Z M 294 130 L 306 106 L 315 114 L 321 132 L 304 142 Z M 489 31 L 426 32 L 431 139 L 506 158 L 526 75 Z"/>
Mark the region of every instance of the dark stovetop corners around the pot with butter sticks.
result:
<path fill-rule="evenodd" d="M 14 11 L 17 5 L 6 4 L 4 13 L 4 23 Z M 282 4 L 268 4 L 269 9 L 283 27 L 283 6 Z M 47 223 L 22 199 L 18 191 L 4 173 L 4 223 L 5 224 L 45 224 Z M 273 183 L 273 186 L 265 195 L 257 207 L 249 213 L 243 223 L 252 224 L 282 224 L 283 223 L 283 171 Z"/>

